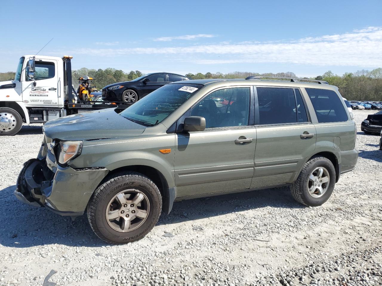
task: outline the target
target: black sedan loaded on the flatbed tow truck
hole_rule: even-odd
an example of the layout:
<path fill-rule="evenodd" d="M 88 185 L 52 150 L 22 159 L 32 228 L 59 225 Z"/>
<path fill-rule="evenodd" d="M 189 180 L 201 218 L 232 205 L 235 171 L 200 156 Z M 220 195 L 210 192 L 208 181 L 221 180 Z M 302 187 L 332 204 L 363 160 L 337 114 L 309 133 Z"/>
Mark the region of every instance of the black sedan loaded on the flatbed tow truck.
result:
<path fill-rule="evenodd" d="M 189 79 L 179 74 L 154 72 L 129 82 L 118 82 L 105 86 L 102 89 L 102 100 L 134 103 L 165 84 Z"/>

